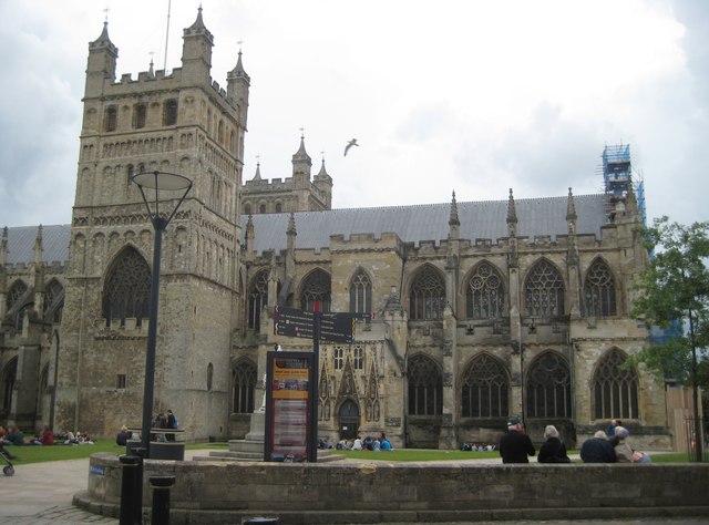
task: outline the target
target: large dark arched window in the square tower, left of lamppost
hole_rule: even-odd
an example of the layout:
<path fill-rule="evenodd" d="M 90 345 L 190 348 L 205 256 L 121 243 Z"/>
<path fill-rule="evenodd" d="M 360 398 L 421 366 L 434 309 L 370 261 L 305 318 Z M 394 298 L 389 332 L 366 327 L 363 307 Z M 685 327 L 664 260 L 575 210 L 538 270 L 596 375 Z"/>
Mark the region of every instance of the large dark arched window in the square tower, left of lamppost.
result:
<path fill-rule="evenodd" d="M 126 248 L 114 260 L 103 288 L 103 317 L 106 326 L 112 319 L 135 318 L 137 326 L 150 317 L 151 269 L 134 248 Z"/>

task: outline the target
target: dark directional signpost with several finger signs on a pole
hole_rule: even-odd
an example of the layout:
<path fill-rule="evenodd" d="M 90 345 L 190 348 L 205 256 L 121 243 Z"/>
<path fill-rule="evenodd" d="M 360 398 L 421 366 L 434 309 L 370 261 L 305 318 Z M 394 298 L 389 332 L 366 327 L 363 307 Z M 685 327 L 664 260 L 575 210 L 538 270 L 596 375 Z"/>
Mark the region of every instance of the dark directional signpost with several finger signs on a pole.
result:
<path fill-rule="evenodd" d="M 310 440 L 308 441 L 308 461 L 318 460 L 318 373 L 320 341 L 354 342 L 354 320 L 362 319 L 360 313 L 336 313 L 320 311 L 316 302 L 316 311 L 299 310 L 276 305 L 274 309 L 274 333 L 284 337 L 312 339 L 312 370 L 309 382 L 310 390 Z"/>

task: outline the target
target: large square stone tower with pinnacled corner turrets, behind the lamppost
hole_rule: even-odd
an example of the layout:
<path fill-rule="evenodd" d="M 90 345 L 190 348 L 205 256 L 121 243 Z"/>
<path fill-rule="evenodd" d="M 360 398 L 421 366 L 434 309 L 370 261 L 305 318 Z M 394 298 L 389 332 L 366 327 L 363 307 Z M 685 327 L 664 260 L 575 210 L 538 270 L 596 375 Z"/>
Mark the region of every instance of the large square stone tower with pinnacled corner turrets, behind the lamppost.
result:
<path fill-rule="evenodd" d="M 197 439 L 224 432 L 229 337 L 238 318 L 239 187 L 249 76 L 239 51 L 226 91 L 210 76 L 199 8 L 182 68 L 115 79 L 107 24 L 89 44 L 71 225 L 55 430 L 138 424 L 154 230 L 132 176 L 171 172 L 193 188 L 163 239 L 155 412 Z M 173 203 L 165 203 L 168 209 Z"/>

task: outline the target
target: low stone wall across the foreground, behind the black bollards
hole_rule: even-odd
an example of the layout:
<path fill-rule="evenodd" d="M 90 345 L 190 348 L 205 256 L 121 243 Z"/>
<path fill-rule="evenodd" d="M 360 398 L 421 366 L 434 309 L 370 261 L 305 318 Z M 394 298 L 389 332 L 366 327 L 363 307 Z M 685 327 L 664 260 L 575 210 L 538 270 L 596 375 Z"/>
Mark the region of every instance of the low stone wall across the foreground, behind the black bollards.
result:
<path fill-rule="evenodd" d="M 389 463 L 223 463 L 147 461 L 174 475 L 173 524 L 281 524 L 623 518 L 709 515 L 709 464 L 485 465 Z M 91 457 L 89 490 L 74 504 L 116 517 L 121 464 Z"/>

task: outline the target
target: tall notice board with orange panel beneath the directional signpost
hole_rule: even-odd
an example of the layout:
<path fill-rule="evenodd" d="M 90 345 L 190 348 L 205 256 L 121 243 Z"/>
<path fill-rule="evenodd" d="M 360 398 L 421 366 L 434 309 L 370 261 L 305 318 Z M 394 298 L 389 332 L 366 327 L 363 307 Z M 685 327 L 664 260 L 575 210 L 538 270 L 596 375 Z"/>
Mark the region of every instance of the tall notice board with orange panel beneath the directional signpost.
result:
<path fill-rule="evenodd" d="M 273 350 L 266 353 L 264 461 L 317 462 L 312 435 L 314 379 L 315 353 Z"/>

